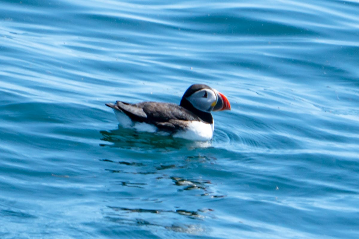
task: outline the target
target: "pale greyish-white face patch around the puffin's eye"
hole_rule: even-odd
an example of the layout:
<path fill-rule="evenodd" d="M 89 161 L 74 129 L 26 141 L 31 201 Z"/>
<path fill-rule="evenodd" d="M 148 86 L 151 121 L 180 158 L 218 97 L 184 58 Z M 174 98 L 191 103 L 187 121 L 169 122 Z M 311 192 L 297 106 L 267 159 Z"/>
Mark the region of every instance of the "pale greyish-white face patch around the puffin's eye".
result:
<path fill-rule="evenodd" d="M 201 111 L 211 112 L 217 103 L 215 92 L 210 89 L 202 89 L 194 92 L 186 98 L 190 103 Z"/>

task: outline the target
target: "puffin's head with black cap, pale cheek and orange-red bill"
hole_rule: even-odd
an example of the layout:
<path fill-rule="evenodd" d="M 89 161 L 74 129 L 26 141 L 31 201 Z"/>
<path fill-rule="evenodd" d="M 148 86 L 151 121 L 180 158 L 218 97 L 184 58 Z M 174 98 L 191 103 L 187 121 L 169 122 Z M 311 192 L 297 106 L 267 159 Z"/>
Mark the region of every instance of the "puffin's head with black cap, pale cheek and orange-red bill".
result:
<path fill-rule="evenodd" d="M 181 105 L 184 99 L 196 109 L 209 113 L 211 111 L 230 110 L 227 97 L 208 85 L 191 85 L 183 95 Z"/>

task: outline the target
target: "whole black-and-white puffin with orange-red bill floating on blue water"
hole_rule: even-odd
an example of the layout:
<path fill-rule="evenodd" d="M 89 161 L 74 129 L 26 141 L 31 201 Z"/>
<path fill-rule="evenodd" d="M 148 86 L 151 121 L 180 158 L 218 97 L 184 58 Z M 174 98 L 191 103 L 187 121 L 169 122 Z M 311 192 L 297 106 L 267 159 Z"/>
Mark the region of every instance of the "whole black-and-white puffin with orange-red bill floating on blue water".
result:
<path fill-rule="evenodd" d="M 213 138 L 212 111 L 230 110 L 226 96 L 204 84 L 194 84 L 183 94 L 180 105 L 145 101 L 107 103 L 123 128 L 162 132 L 174 138 L 208 141 Z"/>

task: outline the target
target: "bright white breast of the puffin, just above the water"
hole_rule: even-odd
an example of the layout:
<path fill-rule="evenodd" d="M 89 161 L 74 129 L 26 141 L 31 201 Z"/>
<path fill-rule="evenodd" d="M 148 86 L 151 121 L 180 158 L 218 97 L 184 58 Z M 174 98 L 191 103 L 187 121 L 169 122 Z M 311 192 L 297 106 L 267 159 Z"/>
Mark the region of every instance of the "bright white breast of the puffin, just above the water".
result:
<path fill-rule="evenodd" d="M 213 124 L 208 124 L 200 121 L 190 121 L 188 129 L 177 132 L 173 135 L 176 138 L 190 139 L 195 141 L 207 141 L 213 137 Z"/>

